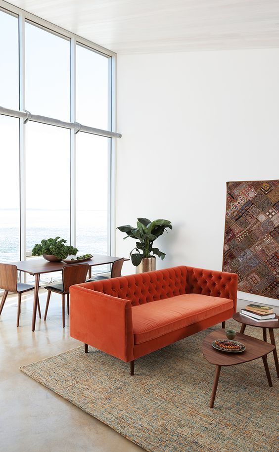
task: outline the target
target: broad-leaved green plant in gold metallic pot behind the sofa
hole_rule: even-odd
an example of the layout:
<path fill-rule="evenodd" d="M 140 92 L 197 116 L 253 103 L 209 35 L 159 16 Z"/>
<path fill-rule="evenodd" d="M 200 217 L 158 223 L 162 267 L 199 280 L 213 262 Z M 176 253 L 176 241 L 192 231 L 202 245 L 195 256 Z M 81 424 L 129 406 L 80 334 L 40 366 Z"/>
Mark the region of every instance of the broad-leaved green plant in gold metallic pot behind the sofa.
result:
<path fill-rule="evenodd" d="M 167 228 L 173 228 L 170 221 L 154 220 L 151 222 L 148 218 L 138 218 L 137 227 L 130 225 L 117 227 L 121 232 L 126 232 L 127 236 L 124 237 L 124 239 L 132 237 L 135 240 L 138 240 L 136 242 L 136 247 L 133 248 L 130 253 L 132 263 L 136 266 L 136 273 L 155 270 L 155 255 L 162 260 L 165 258 L 165 253 L 159 251 L 158 248 L 153 248 L 153 242 L 162 235 Z M 137 252 L 133 253 L 134 250 Z"/>

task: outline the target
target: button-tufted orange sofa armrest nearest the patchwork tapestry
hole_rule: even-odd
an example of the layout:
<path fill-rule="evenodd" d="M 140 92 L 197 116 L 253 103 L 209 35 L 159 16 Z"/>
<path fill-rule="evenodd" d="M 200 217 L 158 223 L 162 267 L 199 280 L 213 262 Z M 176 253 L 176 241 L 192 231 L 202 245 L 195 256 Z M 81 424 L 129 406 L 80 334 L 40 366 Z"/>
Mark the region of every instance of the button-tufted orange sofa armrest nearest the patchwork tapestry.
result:
<path fill-rule="evenodd" d="M 237 274 L 226 271 L 195 269 L 187 267 L 188 282 L 191 293 L 211 295 L 212 297 L 233 300 L 233 311 L 236 312 Z"/>

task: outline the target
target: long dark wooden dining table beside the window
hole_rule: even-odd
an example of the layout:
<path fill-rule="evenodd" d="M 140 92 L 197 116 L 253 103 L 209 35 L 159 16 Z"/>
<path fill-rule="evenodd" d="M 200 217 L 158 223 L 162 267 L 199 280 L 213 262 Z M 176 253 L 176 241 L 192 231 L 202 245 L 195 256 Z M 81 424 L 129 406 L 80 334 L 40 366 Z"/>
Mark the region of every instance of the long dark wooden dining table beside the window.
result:
<path fill-rule="evenodd" d="M 92 267 L 95 267 L 97 265 L 113 264 L 113 262 L 117 261 L 118 259 L 121 258 L 95 254 L 92 259 L 85 262 L 85 264 L 89 265 L 89 278 L 91 278 L 92 276 Z M 128 261 L 128 259 L 125 259 L 125 261 Z M 25 273 L 29 273 L 35 276 L 34 303 L 32 316 L 32 331 L 35 331 L 40 275 L 43 273 L 62 271 L 63 268 L 69 264 L 65 264 L 64 262 L 48 262 L 45 259 L 30 259 L 28 261 L 9 262 L 9 264 L 16 265 L 17 270 L 19 271 L 23 271 Z M 71 265 L 80 265 L 80 264 L 82 263 L 81 262 L 71 263 Z"/>

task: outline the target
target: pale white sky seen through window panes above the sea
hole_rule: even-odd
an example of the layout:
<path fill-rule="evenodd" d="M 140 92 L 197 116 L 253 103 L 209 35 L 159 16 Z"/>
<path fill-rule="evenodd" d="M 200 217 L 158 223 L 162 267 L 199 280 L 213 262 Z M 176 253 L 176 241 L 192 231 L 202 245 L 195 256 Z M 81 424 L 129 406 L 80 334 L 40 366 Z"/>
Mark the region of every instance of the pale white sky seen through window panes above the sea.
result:
<path fill-rule="evenodd" d="M 70 120 L 70 42 L 25 24 L 26 109 Z M 77 117 L 87 126 L 108 126 L 108 59 L 77 46 Z M 0 105 L 19 109 L 17 18 L 0 11 Z M 18 119 L 0 115 L 0 209 L 19 206 Z M 26 124 L 28 209 L 69 209 L 70 131 Z M 77 209 L 107 208 L 109 138 L 76 136 Z M 0 225 L 1 226 L 1 225 Z"/>

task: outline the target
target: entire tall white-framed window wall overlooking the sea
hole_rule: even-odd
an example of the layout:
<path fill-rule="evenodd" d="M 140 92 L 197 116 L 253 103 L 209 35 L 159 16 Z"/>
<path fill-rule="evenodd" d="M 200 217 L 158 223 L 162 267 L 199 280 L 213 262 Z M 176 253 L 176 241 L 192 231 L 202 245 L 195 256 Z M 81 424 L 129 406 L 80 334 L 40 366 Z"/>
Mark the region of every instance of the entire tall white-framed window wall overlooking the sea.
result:
<path fill-rule="evenodd" d="M 109 254 L 114 54 L 1 3 L 0 262 L 57 235 Z"/>

